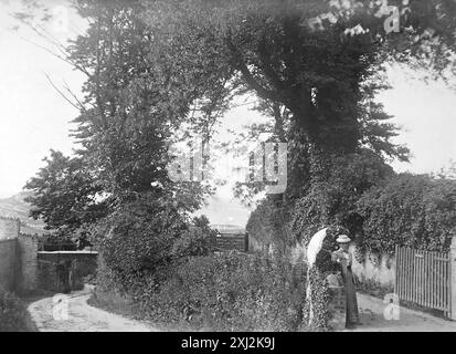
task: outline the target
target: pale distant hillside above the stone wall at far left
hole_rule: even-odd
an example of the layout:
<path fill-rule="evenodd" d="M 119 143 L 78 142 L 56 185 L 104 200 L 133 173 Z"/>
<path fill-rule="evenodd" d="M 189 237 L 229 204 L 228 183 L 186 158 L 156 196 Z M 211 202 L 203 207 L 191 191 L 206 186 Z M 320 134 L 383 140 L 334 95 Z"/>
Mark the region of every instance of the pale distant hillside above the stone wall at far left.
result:
<path fill-rule="evenodd" d="M 47 233 L 43 221 L 29 218 L 30 204 L 25 202 L 24 198 L 30 195 L 30 191 L 21 191 L 10 198 L 0 199 L 0 217 L 21 220 L 23 233 Z"/>

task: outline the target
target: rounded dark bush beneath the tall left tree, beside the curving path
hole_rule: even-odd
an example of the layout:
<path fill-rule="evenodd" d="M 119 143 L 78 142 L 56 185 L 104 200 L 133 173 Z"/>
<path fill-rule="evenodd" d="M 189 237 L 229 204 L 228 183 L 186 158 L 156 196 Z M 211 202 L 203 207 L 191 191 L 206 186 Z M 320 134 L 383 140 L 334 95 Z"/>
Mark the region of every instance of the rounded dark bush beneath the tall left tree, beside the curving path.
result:
<path fill-rule="evenodd" d="M 95 233 L 106 264 L 128 278 L 170 262 L 184 230 L 185 219 L 171 201 L 140 198 L 104 219 Z"/>

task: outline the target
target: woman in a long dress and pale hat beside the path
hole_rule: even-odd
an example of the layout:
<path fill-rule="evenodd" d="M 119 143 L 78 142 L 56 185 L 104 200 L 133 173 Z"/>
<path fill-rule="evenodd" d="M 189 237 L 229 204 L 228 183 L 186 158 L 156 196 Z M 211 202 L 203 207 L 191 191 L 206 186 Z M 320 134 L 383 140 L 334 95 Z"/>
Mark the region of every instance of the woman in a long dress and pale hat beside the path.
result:
<path fill-rule="evenodd" d="M 353 273 L 351 272 L 352 256 L 349 252 L 349 244 L 351 239 L 347 235 L 340 235 L 336 240 L 339 243 L 339 249 L 332 252 L 332 261 L 340 264 L 343 283 L 346 285 L 347 296 L 347 312 L 346 312 L 346 327 L 354 327 L 360 324 L 357 291 L 354 289 Z"/>

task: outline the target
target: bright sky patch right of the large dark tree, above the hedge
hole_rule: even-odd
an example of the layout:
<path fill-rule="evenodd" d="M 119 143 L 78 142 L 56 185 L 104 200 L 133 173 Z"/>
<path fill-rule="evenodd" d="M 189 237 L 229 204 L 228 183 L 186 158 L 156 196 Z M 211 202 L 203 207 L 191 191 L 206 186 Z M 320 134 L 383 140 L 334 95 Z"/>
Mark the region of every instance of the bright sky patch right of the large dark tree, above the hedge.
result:
<path fill-rule="evenodd" d="M 407 70 L 389 70 L 392 90 L 379 95 L 385 111 L 402 127 L 396 142 L 412 150 L 410 164 L 397 171 L 433 173 L 456 160 L 456 92 L 441 81 L 427 84 Z"/>

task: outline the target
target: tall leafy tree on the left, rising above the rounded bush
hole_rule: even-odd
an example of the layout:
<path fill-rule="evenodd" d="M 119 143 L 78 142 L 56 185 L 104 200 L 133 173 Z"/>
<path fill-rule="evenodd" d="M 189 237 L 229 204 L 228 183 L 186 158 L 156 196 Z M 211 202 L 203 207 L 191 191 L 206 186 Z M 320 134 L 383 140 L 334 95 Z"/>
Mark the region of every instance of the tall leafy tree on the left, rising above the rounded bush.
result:
<path fill-rule="evenodd" d="M 85 238 L 96 221 L 141 194 L 172 199 L 182 212 L 198 209 L 206 186 L 173 183 L 167 165 L 192 102 L 205 94 L 203 80 L 171 70 L 178 49 L 160 45 L 161 38 L 140 19 L 139 1 L 75 6 L 89 28 L 62 50 L 87 76 L 74 121 L 82 148 L 74 157 L 51 152 L 25 186 L 34 192 L 31 216 L 60 235 Z"/>

